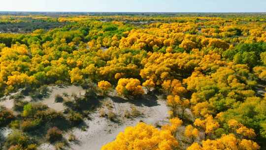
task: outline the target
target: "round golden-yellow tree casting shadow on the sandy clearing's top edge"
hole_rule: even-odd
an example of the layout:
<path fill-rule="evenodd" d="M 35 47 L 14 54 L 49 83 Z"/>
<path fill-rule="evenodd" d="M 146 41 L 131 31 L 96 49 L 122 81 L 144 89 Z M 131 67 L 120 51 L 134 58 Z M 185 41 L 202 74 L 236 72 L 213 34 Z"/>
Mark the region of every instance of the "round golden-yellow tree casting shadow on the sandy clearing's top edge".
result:
<path fill-rule="evenodd" d="M 134 78 L 120 78 L 116 90 L 121 95 L 143 95 L 144 90 L 140 81 Z"/>

